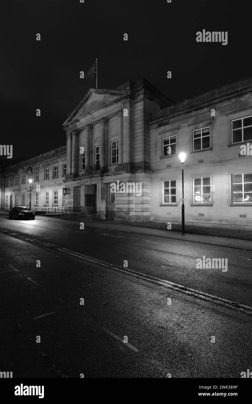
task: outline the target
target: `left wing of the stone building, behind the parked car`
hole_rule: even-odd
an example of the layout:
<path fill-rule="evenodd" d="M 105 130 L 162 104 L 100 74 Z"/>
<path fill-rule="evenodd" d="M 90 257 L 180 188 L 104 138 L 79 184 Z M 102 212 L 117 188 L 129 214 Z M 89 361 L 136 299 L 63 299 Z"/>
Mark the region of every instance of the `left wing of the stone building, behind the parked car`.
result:
<path fill-rule="evenodd" d="M 66 146 L 40 154 L 21 163 L 9 166 L 0 173 L 1 209 L 29 206 L 31 184 L 31 209 L 59 208 L 64 204 L 62 189 L 66 175 Z"/>

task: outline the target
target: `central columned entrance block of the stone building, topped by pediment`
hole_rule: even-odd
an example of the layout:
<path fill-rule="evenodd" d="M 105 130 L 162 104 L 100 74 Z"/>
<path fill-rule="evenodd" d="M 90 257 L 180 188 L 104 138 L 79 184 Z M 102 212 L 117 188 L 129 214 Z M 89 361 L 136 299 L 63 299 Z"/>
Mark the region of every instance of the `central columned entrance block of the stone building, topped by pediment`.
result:
<path fill-rule="evenodd" d="M 66 204 L 114 221 L 151 216 L 150 115 L 172 101 L 140 80 L 115 90 L 90 89 L 64 122 L 67 136 Z M 110 184 L 141 184 L 111 193 Z M 122 190 L 122 189 L 121 189 Z M 135 190 L 133 187 L 130 190 Z"/>

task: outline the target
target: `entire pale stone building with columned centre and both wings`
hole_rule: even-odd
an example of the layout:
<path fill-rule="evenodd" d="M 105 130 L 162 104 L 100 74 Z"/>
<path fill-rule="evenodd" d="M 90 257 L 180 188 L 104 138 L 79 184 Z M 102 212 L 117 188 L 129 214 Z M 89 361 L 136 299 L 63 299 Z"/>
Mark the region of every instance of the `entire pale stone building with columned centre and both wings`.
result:
<path fill-rule="evenodd" d="M 146 80 L 90 89 L 64 130 L 66 146 L 2 169 L 1 208 L 28 204 L 30 175 L 33 208 L 181 223 L 184 152 L 185 222 L 252 230 L 252 77 L 177 104 Z"/>

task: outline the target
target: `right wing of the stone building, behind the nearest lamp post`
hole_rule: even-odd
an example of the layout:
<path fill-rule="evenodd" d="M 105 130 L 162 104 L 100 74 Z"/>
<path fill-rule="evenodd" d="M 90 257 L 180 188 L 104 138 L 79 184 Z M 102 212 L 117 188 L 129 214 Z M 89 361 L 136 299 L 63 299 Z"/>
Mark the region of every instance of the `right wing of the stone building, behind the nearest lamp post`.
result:
<path fill-rule="evenodd" d="M 184 152 L 185 224 L 252 230 L 252 77 L 164 108 L 149 124 L 151 219 L 181 222 Z"/>

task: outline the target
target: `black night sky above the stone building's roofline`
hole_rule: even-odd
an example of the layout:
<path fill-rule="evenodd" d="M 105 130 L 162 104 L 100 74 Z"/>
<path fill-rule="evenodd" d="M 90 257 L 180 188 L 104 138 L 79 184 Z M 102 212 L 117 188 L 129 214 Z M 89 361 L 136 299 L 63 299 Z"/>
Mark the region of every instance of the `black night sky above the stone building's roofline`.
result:
<path fill-rule="evenodd" d="M 67 114 L 95 87 L 79 72 L 96 57 L 98 88 L 145 78 L 175 102 L 252 74 L 251 1 L 16 0 L 4 7 L 0 144 L 13 145 L 9 164 L 66 143 Z M 203 29 L 228 31 L 228 44 L 197 43 Z"/>

